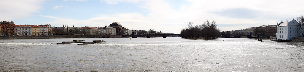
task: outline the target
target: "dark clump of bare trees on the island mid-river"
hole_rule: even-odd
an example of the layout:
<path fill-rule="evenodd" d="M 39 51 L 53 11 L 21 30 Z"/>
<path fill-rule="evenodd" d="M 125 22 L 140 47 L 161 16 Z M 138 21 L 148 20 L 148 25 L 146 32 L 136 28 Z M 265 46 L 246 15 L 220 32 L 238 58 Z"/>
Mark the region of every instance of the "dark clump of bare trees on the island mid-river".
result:
<path fill-rule="evenodd" d="M 207 20 L 202 25 L 192 25 L 193 22 L 188 22 L 188 28 L 183 28 L 181 30 L 181 37 L 215 39 L 220 36 L 220 30 L 217 28 L 216 21 Z"/>

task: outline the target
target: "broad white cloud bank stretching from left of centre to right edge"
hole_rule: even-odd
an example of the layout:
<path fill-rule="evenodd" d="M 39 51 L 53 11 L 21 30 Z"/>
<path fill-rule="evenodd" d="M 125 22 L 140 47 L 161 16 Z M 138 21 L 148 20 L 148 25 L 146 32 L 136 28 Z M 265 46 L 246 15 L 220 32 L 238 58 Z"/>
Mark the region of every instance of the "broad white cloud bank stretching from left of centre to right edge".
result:
<path fill-rule="evenodd" d="M 174 0 L 173 0 L 174 1 Z M 116 13 L 109 15 L 98 15 L 85 20 L 75 20 L 71 18 L 54 18 L 54 21 L 47 22 L 57 26 L 104 26 L 112 22 L 120 22 L 126 28 L 145 29 L 150 28 L 157 31 L 179 33 L 182 28 L 187 27 L 188 21 L 194 25 L 201 25 L 206 19 L 215 20 L 218 28 L 222 31 L 236 30 L 242 28 L 265 25 L 276 25 L 278 21 L 286 18 L 292 19 L 301 15 L 304 11 L 300 3 L 303 1 L 292 1 L 296 3 L 285 3 L 284 1 L 256 0 L 256 1 L 203 1 L 187 0 L 179 5 L 163 0 L 102 0 L 107 4 L 118 4 L 121 2 L 133 3 L 147 11 L 148 14 L 140 13 Z M 110 3 L 108 3 L 110 2 Z M 281 4 L 281 5 L 278 5 Z M 296 6 L 295 6 L 296 5 Z M 244 13 L 250 11 L 248 13 Z M 254 12 L 251 12 L 254 11 Z M 221 15 L 221 13 L 234 13 L 231 15 Z M 249 14 L 246 16 L 236 14 Z M 253 15 L 250 15 L 254 13 Z M 252 17 L 251 17 L 252 16 Z"/>

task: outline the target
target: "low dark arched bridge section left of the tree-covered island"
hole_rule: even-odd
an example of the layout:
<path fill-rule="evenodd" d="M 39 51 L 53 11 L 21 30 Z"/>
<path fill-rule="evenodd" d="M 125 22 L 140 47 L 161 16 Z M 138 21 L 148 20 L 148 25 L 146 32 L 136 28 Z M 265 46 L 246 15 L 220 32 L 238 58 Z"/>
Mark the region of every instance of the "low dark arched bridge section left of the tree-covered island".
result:
<path fill-rule="evenodd" d="M 131 34 L 131 35 L 123 35 L 122 38 L 137 38 L 137 37 L 142 37 L 142 38 L 150 38 L 150 37 L 163 37 L 163 38 L 166 38 L 167 36 L 169 35 L 178 35 L 178 36 L 181 36 L 181 34 Z M 183 38 L 183 37 L 181 37 Z"/>

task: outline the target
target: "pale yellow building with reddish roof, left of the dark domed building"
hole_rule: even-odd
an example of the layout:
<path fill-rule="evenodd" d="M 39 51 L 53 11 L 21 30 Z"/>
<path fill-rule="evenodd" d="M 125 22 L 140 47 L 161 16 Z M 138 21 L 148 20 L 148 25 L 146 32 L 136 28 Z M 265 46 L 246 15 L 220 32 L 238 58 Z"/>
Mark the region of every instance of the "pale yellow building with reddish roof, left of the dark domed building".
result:
<path fill-rule="evenodd" d="M 81 34 L 85 34 L 85 35 L 96 35 L 98 28 L 92 28 L 92 27 L 79 28 L 79 31 Z"/>

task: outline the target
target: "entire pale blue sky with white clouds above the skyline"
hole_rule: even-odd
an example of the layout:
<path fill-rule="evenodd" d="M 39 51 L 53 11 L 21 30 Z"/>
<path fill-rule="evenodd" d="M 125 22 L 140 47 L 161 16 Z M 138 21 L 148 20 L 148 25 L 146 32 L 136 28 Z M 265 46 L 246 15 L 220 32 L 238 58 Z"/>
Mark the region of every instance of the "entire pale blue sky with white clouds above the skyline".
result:
<path fill-rule="evenodd" d="M 304 15 L 304 0 L 1 0 L 0 21 L 15 25 L 109 26 L 180 33 L 188 22 L 221 31 L 277 25 Z"/>

